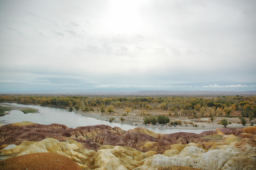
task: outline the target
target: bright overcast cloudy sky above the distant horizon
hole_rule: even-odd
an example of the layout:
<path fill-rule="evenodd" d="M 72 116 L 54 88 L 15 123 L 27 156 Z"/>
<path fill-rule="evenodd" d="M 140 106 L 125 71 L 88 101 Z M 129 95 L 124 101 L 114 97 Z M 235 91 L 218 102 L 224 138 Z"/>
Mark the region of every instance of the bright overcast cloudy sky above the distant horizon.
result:
<path fill-rule="evenodd" d="M 0 0 L 0 92 L 256 90 L 255 0 Z"/>

